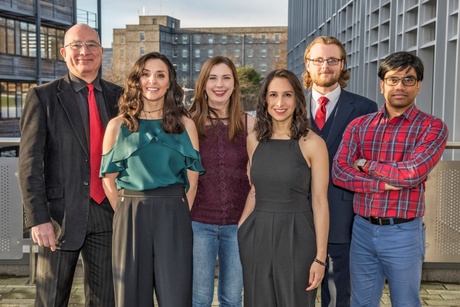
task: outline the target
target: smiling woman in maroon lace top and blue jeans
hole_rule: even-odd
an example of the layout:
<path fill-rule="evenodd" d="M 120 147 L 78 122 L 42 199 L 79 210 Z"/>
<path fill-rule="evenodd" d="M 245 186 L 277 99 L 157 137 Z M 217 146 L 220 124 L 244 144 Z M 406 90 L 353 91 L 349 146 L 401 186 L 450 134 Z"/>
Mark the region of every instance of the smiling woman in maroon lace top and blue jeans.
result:
<path fill-rule="evenodd" d="M 239 82 L 230 59 L 215 56 L 204 63 L 190 114 L 206 169 L 191 208 L 193 306 L 211 306 L 217 258 L 220 305 L 241 306 L 243 275 L 237 225 L 249 192 L 246 137 L 254 118 L 241 111 Z"/>

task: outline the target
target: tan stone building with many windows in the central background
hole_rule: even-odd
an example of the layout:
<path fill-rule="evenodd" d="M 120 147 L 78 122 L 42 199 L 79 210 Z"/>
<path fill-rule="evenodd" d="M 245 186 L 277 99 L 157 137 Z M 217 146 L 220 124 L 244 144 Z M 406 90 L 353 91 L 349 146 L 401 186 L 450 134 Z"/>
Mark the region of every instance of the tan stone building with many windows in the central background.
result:
<path fill-rule="evenodd" d="M 276 65 L 285 67 L 286 41 L 287 27 L 181 28 L 170 16 L 139 16 L 138 25 L 113 30 L 113 72 L 125 77 L 139 56 L 159 51 L 185 88 L 194 87 L 201 66 L 214 55 L 265 76 Z"/>

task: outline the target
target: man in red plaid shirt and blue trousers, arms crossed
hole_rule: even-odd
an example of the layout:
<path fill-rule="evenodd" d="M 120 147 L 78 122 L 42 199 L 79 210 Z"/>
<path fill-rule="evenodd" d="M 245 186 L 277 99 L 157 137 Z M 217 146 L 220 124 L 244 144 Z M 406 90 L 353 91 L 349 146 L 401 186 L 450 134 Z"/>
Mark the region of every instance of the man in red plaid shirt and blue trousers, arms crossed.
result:
<path fill-rule="evenodd" d="M 379 306 L 385 279 L 393 306 L 421 306 L 425 182 L 442 156 L 447 126 L 415 98 L 423 63 L 408 52 L 380 65 L 385 104 L 352 121 L 334 158 L 334 184 L 354 191 L 352 306 Z"/>

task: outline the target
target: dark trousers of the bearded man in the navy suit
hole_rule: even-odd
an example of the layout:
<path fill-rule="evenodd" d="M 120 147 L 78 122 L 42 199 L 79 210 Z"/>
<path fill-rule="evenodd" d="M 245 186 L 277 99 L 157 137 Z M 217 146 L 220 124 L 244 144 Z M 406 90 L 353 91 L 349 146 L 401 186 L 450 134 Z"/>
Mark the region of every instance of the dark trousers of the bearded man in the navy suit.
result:
<path fill-rule="evenodd" d="M 327 267 L 321 283 L 321 306 L 350 306 L 350 243 L 327 245 Z"/>

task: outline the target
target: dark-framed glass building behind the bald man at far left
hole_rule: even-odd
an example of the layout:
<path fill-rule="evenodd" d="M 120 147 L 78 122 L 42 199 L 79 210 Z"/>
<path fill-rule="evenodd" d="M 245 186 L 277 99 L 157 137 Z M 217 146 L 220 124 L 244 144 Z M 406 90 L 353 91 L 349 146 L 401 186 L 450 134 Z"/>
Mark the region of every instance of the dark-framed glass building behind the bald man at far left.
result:
<path fill-rule="evenodd" d="M 75 0 L 0 0 L 1 136 L 19 136 L 18 121 L 30 87 L 67 71 L 59 49 L 75 20 Z"/>

